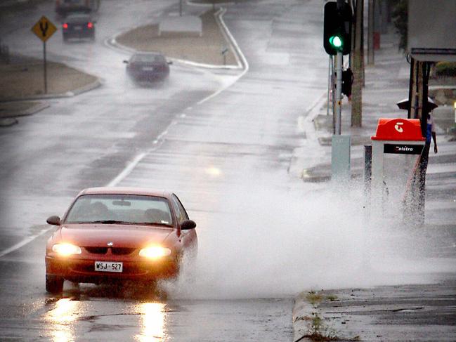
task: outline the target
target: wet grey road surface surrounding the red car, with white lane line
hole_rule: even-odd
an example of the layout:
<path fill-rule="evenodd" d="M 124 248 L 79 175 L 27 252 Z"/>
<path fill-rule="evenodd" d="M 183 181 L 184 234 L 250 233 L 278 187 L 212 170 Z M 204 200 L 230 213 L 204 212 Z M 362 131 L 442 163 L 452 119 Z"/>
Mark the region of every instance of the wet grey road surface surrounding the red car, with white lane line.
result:
<path fill-rule="evenodd" d="M 297 120 L 326 84 L 327 56 L 317 50 L 320 1 L 228 9 L 226 22 L 250 70 L 214 98 L 207 97 L 233 74 L 174 65 L 165 86 L 129 83 L 122 64 L 128 54 L 105 39 L 176 12 L 169 1 L 134 4 L 103 3 L 95 44 L 50 40 L 50 58 L 103 77 L 102 87 L 51 100 L 0 133 L 0 339 L 291 341 L 296 287 L 277 272 L 271 277 L 290 261 L 268 256 L 271 242 L 256 219 L 263 210 L 249 206 L 256 194 L 271 197 L 294 185 L 287 168 L 302 140 Z M 52 18 L 52 11 L 44 3 L 20 22 L 10 20 L 11 50 L 39 55 L 27 22 L 43 13 Z M 145 293 L 65 283 L 61 298 L 46 295 L 46 218 L 61 216 L 81 188 L 107 184 L 175 190 L 198 224 L 197 269 Z M 249 239 L 263 248 L 252 253 Z"/>

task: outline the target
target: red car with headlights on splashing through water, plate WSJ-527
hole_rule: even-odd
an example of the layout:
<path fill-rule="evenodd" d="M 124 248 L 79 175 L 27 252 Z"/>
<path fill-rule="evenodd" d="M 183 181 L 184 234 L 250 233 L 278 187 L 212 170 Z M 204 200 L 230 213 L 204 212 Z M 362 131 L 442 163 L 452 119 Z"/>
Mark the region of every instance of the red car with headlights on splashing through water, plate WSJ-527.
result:
<path fill-rule="evenodd" d="M 79 192 L 46 246 L 46 291 L 65 279 L 100 284 L 155 282 L 178 276 L 183 256 L 195 256 L 196 223 L 169 192 L 89 188 Z"/>

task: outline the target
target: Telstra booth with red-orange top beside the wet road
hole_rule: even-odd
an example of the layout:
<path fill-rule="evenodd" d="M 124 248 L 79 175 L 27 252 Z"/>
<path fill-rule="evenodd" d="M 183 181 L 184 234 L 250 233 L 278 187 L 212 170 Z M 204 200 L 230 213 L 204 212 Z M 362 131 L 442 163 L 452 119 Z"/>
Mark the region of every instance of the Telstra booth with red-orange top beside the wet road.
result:
<path fill-rule="evenodd" d="M 371 140 L 372 210 L 383 215 L 386 204 L 390 211 L 402 210 L 426 140 L 419 119 L 379 119 Z"/>

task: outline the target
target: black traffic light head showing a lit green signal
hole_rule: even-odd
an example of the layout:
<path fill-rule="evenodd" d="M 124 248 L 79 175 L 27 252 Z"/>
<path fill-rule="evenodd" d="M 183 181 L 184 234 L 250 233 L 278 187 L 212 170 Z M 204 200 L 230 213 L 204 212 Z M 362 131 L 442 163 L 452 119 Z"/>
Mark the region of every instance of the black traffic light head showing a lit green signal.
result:
<path fill-rule="evenodd" d="M 344 55 L 351 51 L 351 9 L 344 4 L 337 8 L 337 2 L 325 4 L 325 18 L 323 29 L 323 46 L 329 55 L 337 55 L 341 51 Z"/>

